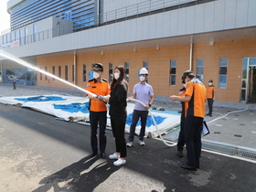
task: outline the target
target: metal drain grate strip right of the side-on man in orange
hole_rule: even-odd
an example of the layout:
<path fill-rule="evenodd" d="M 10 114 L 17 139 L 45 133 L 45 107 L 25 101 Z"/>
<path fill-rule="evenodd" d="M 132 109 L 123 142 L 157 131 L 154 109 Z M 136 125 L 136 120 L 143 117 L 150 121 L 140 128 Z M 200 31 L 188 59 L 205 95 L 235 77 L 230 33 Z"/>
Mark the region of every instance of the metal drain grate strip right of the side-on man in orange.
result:
<path fill-rule="evenodd" d="M 204 149 L 216 151 L 219 153 L 225 153 L 228 155 L 236 155 L 236 156 L 241 156 L 241 157 L 256 160 L 256 153 L 251 152 L 251 151 L 246 151 L 246 150 L 237 149 L 237 148 L 219 145 L 219 144 L 209 144 L 209 143 L 204 143 L 204 142 L 202 142 L 202 147 Z"/>

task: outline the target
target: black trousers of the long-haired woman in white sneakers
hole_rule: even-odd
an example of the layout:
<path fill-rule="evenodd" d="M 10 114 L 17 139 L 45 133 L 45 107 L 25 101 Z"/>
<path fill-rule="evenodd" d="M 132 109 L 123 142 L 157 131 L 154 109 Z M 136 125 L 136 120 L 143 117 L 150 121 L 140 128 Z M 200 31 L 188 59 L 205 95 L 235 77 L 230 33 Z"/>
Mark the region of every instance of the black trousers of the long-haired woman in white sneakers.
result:
<path fill-rule="evenodd" d="M 124 138 L 124 132 L 125 132 L 125 119 L 113 119 L 111 118 L 112 123 L 112 134 L 115 139 L 115 151 L 117 153 L 120 153 L 120 157 L 127 156 L 126 152 L 126 142 Z"/>

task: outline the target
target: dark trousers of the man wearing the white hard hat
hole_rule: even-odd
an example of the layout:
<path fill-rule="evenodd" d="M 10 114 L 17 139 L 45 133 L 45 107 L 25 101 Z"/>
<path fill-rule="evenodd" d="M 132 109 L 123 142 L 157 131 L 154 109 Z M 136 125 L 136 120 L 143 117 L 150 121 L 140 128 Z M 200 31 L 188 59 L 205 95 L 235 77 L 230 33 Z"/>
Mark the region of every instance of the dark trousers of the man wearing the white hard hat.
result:
<path fill-rule="evenodd" d="M 133 120 L 130 126 L 129 142 L 133 142 L 136 125 L 141 118 L 141 131 L 139 140 L 144 141 L 145 125 L 147 120 L 148 111 L 133 110 Z"/>

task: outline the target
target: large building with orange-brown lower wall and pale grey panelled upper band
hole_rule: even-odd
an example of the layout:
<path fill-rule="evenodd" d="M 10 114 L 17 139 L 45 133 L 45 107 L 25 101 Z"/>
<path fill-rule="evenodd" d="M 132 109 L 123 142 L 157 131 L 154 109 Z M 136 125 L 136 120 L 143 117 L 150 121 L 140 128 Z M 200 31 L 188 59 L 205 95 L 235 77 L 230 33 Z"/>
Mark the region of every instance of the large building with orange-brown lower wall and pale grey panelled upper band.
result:
<path fill-rule="evenodd" d="M 27 20 L 14 15 L 26 15 L 25 7 L 37 7 L 35 2 L 46 1 L 8 2 L 7 9 L 14 20 L 11 31 L 2 34 L 2 51 L 33 61 L 39 69 L 81 88 L 91 78 L 91 64 L 101 62 L 104 78 L 110 81 L 116 66 L 125 67 L 130 93 L 142 67 L 149 70 L 149 83 L 156 97 L 176 94 L 182 87 L 181 75 L 191 69 L 206 86 L 208 80 L 213 80 L 217 101 L 256 101 L 254 0 L 50 1 L 62 8 L 65 5 L 61 9 L 64 14 L 34 21 L 32 18 L 32 23 L 21 25 Z M 93 6 L 93 22 L 79 28 L 76 10 L 85 11 L 89 4 Z M 48 8 L 52 11 L 51 7 Z M 51 25 L 47 27 L 48 24 Z M 41 28 L 33 33 L 35 25 Z M 28 30 L 24 37 L 28 40 L 10 46 L 14 41 L 10 34 L 17 30 L 25 34 Z M 50 35 L 45 35 L 46 31 Z M 0 59 L 6 82 L 4 69 L 18 69 L 18 64 Z M 39 72 L 36 84 L 70 88 Z"/>

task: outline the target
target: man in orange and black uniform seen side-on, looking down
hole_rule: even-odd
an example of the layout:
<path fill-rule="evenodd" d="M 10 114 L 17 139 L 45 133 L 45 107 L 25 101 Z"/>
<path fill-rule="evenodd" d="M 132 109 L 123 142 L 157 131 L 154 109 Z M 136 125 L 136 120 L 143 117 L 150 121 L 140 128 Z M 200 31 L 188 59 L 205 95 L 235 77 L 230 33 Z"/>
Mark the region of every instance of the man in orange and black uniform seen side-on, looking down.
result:
<path fill-rule="evenodd" d="M 191 70 L 183 73 L 182 80 L 186 82 L 185 96 L 170 96 L 172 101 L 185 102 L 184 134 L 187 147 L 187 164 L 181 168 L 196 171 L 199 168 L 201 156 L 201 131 L 205 117 L 205 101 L 207 90 Z"/>

